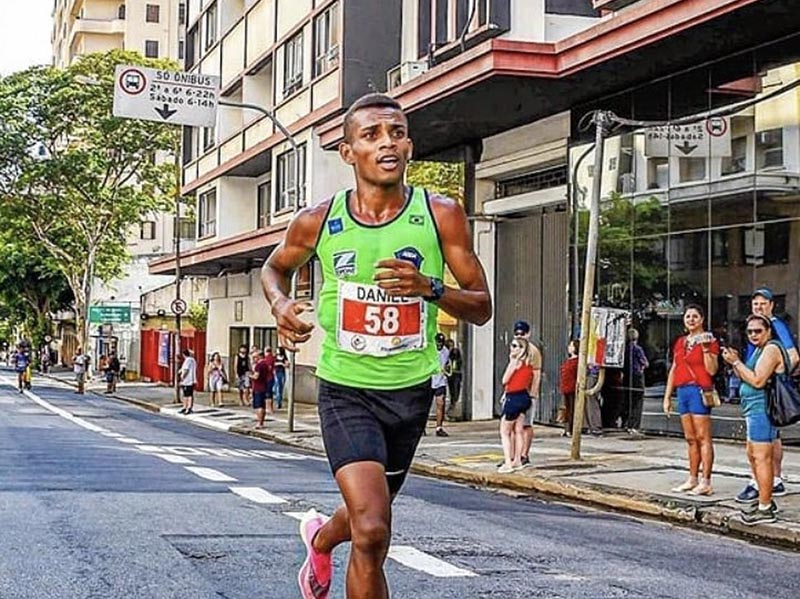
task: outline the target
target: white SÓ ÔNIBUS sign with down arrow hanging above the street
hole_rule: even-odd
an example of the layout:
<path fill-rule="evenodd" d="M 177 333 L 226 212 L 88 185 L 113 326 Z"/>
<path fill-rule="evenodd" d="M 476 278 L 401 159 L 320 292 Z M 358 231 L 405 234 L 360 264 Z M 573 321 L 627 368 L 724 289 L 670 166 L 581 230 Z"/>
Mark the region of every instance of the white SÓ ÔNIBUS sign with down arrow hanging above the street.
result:
<path fill-rule="evenodd" d="M 213 127 L 220 78 L 119 65 L 114 72 L 114 116 L 175 125 Z"/>

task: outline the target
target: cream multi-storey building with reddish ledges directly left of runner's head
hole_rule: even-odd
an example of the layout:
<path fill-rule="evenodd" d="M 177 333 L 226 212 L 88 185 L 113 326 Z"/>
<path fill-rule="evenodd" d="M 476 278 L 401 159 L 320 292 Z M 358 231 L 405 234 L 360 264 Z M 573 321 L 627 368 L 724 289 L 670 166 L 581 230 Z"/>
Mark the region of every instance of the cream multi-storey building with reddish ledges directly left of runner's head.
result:
<path fill-rule="evenodd" d="M 219 76 L 225 103 L 272 111 L 300 163 L 255 110 L 222 106 L 216 127 L 184 130 L 183 191 L 196 199 L 197 246 L 181 267 L 209 277 L 207 352 L 228 359 L 240 344 L 276 346 L 259 269 L 298 208 L 352 185 L 316 128 L 384 88 L 400 63 L 401 9 L 399 0 L 189 1 L 186 70 Z M 150 272 L 174 273 L 174 258 L 153 261 Z M 312 264 L 299 273 L 298 296 L 314 299 L 318 285 Z M 315 396 L 319 344 L 312 339 L 298 355 L 300 399 Z"/>

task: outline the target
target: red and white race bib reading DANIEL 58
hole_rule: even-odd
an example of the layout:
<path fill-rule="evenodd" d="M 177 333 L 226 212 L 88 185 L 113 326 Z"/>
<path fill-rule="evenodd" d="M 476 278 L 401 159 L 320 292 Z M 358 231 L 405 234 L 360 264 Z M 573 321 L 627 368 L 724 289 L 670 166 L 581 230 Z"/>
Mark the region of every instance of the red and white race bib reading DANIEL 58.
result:
<path fill-rule="evenodd" d="M 390 356 L 425 347 L 426 305 L 419 297 L 391 297 L 376 285 L 339 282 L 340 349 Z"/>

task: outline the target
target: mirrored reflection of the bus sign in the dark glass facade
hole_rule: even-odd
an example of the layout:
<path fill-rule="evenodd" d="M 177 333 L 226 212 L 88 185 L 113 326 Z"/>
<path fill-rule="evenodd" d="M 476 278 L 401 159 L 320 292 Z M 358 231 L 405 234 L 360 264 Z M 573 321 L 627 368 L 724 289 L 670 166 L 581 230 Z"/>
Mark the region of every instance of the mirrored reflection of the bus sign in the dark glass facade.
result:
<path fill-rule="evenodd" d="M 650 157 L 708 158 L 731 155 L 728 117 L 713 117 L 691 125 L 664 125 L 644 131 L 644 153 Z"/>

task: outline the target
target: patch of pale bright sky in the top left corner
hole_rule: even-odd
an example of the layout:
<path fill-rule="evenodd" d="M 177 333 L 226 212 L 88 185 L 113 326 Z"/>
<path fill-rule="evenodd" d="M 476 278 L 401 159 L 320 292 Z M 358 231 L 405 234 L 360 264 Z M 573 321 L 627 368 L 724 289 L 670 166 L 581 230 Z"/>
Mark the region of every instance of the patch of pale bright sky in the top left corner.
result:
<path fill-rule="evenodd" d="M 50 64 L 53 0 L 0 0 L 0 75 Z"/>

